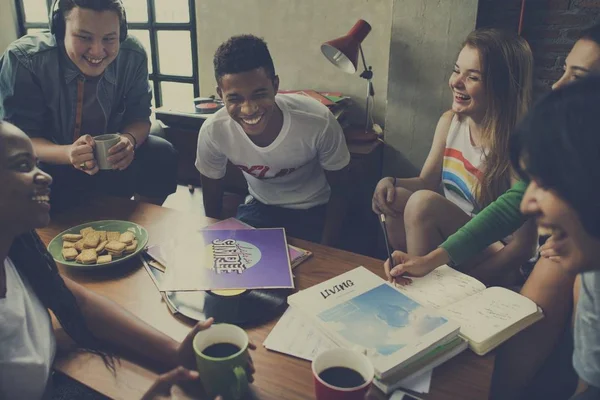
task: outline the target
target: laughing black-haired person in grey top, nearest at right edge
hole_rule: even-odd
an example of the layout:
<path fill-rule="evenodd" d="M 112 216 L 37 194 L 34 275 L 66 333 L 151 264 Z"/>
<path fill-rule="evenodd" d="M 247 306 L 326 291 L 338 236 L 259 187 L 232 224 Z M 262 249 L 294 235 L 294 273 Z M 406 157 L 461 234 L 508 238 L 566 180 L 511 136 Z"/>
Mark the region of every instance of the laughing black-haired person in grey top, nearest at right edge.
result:
<path fill-rule="evenodd" d="M 553 261 L 580 281 L 576 399 L 600 398 L 599 129 L 600 77 L 590 77 L 545 97 L 511 139 L 513 166 L 530 180 L 521 211 L 552 232 Z"/>

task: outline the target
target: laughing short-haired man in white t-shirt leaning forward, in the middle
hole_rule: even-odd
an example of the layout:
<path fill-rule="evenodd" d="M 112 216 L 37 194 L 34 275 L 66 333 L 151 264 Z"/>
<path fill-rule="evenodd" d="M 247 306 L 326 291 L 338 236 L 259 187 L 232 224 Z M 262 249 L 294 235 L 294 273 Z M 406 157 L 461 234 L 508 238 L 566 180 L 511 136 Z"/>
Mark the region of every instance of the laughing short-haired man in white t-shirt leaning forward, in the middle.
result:
<path fill-rule="evenodd" d="M 219 46 L 214 67 L 225 107 L 198 137 L 196 168 L 206 215 L 221 217 L 222 180 L 231 161 L 250 192 L 238 219 L 335 243 L 346 212 L 350 153 L 333 114 L 311 98 L 276 95 L 273 60 L 255 36 L 234 36 Z"/>

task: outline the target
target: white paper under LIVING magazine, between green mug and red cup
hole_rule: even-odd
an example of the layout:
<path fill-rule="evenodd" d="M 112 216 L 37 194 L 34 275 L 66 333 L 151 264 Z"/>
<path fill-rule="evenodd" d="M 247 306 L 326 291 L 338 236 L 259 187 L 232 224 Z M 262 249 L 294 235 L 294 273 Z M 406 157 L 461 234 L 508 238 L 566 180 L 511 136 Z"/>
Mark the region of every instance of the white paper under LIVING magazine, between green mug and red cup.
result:
<path fill-rule="evenodd" d="M 263 345 L 273 351 L 312 361 L 319 353 L 338 347 L 308 318 L 288 307 Z"/>

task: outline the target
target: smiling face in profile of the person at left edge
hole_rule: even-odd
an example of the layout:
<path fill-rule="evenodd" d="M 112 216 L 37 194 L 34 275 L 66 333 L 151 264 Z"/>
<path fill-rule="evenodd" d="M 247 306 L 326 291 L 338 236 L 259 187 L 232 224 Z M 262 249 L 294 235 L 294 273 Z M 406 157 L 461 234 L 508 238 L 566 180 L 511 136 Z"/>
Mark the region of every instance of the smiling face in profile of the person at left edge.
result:
<path fill-rule="evenodd" d="M 36 165 L 31 140 L 15 126 L 0 123 L 0 226 L 19 235 L 48 225 L 51 183 Z"/>

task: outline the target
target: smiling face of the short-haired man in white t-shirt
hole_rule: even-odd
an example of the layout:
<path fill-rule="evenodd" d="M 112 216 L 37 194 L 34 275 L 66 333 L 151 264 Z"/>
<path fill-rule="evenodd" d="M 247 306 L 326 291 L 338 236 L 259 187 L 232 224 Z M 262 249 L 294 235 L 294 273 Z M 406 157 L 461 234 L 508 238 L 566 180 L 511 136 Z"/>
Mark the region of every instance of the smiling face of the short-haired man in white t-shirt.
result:
<path fill-rule="evenodd" d="M 257 68 L 223 75 L 217 93 L 231 118 L 252 138 L 279 133 L 281 123 L 277 117 L 281 111 L 275 103 L 278 88 L 277 76 L 271 79 L 264 68 Z"/>

